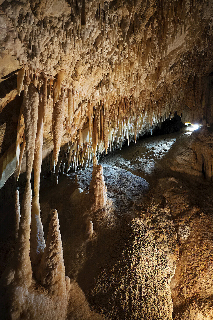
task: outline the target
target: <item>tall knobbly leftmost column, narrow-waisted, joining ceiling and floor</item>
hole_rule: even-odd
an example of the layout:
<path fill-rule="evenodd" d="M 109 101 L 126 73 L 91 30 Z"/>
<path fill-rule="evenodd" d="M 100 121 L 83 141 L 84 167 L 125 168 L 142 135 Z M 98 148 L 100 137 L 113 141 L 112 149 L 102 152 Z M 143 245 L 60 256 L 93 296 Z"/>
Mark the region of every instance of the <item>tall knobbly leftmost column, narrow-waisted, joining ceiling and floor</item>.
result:
<path fill-rule="evenodd" d="M 24 85 L 24 122 L 25 122 L 25 139 L 26 139 L 26 172 L 27 183 L 25 186 L 21 217 L 19 223 L 18 238 L 15 248 L 14 259 L 17 263 L 15 269 L 15 281 L 17 284 L 29 287 L 32 281 L 32 268 L 30 261 L 30 221 L 31 221 L 31 200 L 32 190 L 30 184 L 34 150 L 35 136 L 38 119 L 38 92 L 34 84 L 30 84 L 27 77 Z"/>

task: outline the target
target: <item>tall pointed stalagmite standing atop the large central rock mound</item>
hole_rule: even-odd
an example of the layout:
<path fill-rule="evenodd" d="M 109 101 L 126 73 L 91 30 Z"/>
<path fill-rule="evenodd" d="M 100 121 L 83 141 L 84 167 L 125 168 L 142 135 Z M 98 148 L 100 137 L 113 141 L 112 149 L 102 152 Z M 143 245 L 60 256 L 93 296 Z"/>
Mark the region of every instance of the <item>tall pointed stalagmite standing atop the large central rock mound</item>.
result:
<path fill-rule="evenodd" d="M 103 168 L 98 164 L 96 156 L 93 156 L 92 180 L 90 182 L 90 199 L 94 209 L 103 209 L 107 200 L 107 188 L 104 182 Z"/>

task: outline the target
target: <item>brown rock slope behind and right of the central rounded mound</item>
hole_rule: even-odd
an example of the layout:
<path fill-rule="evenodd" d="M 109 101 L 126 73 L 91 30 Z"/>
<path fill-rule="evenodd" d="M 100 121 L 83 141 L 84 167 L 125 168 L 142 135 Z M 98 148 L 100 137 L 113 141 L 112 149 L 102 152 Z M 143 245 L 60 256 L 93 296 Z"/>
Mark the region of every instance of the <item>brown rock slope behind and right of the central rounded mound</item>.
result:
<path fill-rule="evenodd" d="M 175 320 L 212 319 L 213 189 L 212 182 L 204 180 L 193 151 L 198 143 L 199 152 L 208 151 L 211 135 L 204 128 L 148 138 L 101 159 L 103 165 L 110 163 L 146 177 L 167 199 L 179 247 L 171 280 Z M 208 153 L 204 154 L 207 158 Z"/>

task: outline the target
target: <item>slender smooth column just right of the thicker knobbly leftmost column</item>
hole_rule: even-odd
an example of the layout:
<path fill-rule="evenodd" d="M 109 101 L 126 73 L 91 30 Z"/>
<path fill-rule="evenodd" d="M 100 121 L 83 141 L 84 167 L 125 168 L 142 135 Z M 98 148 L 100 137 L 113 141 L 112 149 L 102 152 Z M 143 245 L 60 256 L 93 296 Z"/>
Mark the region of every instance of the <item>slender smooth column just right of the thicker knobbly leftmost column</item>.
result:
<path fill-rule="evenodd" d="M 42 164 L 42 146 L 43 146 L 43 115 L 42 115 L 42 102 L 39 100 L 38 107 L 38 122 L 35 140 L 35 154 L 33 160 L 34 170 L 34 194 L 32 199 L 32 212 L 31 212 L 31 233 L 30 233 L 30 259 L 32 267 L 38 265 L 41 260 L 45 242 L 43 237 L 43 226 L 40 217 L 40 204 L 39 204 L 39 184 L 41 176 Z"/>

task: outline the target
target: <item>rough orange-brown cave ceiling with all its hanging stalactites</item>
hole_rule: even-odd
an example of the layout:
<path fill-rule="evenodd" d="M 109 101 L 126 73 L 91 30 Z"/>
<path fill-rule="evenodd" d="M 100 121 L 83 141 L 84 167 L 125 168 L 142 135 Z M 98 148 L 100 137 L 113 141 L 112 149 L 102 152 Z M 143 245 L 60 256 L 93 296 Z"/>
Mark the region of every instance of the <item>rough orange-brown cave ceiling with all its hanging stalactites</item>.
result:
<path fill-rule="evenodd" d="M 65 158 L 72 148 L 73 167 L 86 166 L 97 145 L 103 154 L 124 140 L 136 141 L 175 111 L 186 123 L 213 122 L 212 1 L 12 0 L 0 5 L 0 111 L 6 115 L 0 123 L 0 156 L 15 158 L 8 150 L 17 123 L 11 108 L 21 106 L 28 73 L 42 99 L 43 157 L 54 142 L 50 169 L 60 146 L 67 144 Z"/>

